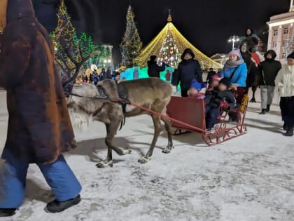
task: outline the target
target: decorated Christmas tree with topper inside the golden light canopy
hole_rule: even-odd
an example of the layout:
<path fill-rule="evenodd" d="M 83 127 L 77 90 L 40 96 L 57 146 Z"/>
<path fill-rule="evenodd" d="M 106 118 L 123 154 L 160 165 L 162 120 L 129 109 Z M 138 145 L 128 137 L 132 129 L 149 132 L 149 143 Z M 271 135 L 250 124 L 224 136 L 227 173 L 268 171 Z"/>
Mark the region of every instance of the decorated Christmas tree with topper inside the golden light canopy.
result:
<path fill-rule="evenodd" d="M 172 15 L 169 11 L 168 22 L 172 22 Z M 176 45 L 174 36 L 172 34 L 171 27 L 167 27 L 167 35 L 162 43 L 162 48 L 158 55 L 158 64 L 162 65 L 162 62 L 166 62 L 167 65 L 171 67 L 177 67 L 179 62 L 181 62 L 181 53 L 179 53 L 179 48 Z"/>

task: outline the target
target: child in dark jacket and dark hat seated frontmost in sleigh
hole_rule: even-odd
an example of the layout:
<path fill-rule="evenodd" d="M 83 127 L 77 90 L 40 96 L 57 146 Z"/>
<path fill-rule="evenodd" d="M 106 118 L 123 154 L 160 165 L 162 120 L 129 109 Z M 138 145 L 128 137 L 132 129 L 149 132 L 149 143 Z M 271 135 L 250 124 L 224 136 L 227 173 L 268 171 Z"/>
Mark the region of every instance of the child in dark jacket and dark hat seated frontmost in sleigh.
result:
<path fill-rule="evenodd" d="M 219 123 L 219 117 L 224 110 L 233 109 L 236 105 L 234 94 L 229 91 L 230 79 L 223 78 L 217 88 L 210 91 L 205 98 L 207 130 Z"/>

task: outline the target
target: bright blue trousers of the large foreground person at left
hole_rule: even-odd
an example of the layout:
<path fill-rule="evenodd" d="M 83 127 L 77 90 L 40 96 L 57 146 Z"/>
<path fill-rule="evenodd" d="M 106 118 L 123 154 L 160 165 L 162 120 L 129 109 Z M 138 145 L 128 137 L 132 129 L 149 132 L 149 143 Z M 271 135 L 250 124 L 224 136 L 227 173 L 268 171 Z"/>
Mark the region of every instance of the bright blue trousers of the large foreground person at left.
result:
<path fill-rule="evenodd" d="M 29 163 L 16 159 L 6 149 L 0 171 L 0 208 L 19 208 L 25 198 L 25 185 Z M 67 201 L 78 196 L 81 186 L 76 176 L 60 155 L 54 163 L 37 164 L 57 201 Z"/>

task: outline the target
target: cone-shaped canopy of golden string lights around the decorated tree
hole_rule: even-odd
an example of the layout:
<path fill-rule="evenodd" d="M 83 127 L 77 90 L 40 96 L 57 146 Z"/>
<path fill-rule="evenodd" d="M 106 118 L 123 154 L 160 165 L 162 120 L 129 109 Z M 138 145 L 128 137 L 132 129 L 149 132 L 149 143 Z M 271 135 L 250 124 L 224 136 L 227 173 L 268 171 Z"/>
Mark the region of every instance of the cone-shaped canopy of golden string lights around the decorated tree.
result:
<path fill-rule="evenodd" d="M 193 44 L 191 44 L 178 29 L 174 26 L 172 22 L 168 22 L 167 25 L 162 29 L 162 31 L 155 36 L 155 39 L 151 41 L 151 43 L 146 46 L 140 55 L 136 58 L 137 64 L 140 67 L 146 67 L 146 63 L 149 60 L 151 55 L 159 55 L 160 50 L 162 48 L 162 44 L 167 38 L 167 33 L 172 32 L 174 36 L 174 42 L 176 46 L 179 48 L 179 52 L 183 53 L 186 48 L 190 48 L 193 53 L 195 53 L 195 59 L 200 62 L 202 69 L 209 69 L 210 67 L 214 69 L 223 68 L 223 65 L 211 60 L 207 55 L 204 55 L 201 51 L 199 51 Z"/>

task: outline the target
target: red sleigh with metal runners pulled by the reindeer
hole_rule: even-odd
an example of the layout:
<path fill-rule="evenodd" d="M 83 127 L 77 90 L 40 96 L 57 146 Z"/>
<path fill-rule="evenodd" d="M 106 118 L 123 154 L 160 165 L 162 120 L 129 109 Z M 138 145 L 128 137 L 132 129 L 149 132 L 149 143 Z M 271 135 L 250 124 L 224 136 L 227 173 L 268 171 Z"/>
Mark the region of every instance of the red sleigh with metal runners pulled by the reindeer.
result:
<path fill-rule="evenodd" d="M 248 107 L 248 91 L 244 88 L 237 88 L 234 93 L 239 107 L 219 116 L 220 123 L 215 126 L 213 132 L 206 130 L 204 100 L 172 97 L 167 106 L 167 114 L 177 120 L 172 121 L 172 126 L 176 128 L 174 135 L 190 132 L 201 133 L 204 142 L 209 146 L 244 135 L 247 132 L 244 121 Z M 237 115 L 237 122 L 229 121 L 230 113 Z"/>

